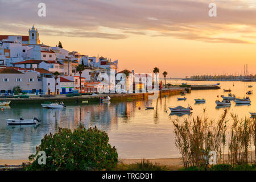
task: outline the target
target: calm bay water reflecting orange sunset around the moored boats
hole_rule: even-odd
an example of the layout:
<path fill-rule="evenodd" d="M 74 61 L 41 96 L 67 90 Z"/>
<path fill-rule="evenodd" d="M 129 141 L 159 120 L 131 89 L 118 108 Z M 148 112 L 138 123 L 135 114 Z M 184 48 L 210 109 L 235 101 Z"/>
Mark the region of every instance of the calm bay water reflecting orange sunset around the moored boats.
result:
<path fill-rule="evenodd" d="M 181 83 L 181 80 L 167 80 Z M 187 81 L 196 83 L 195 81 Z M 216 82 L 197 82 L 199 84 L 216 84 Z M 232 89 L 237 97 L 245 96 L 248 90 L 256 88 L 256 82 L 220 82 L 219 90 L 192 90 L 187 94 L 187 101 L 177 101 L 170 96 L 152 101 L 154 110 L 145 110 L 145 101 L 110 102 L 110 104 L 73 104 L 65 109 L 43 109 L 36 105 L 12 105 L 0 111 L 0 159 L 27 159 L 35 152 L 35 147 L 45 134 L 54 133 L 57 127 L 75 129 L 81 122 L 85 127 L 97 126 L 109 134 L 110 143 L 118 150 L 119 158 L 175 158 L 180 156 L 174 145 L 172 119 L 192 119 L 203 113 L 210 119 L 218 119 L 224 108 L 216 109 L 216 96 L 228 95 L 222 89 Z M 234 86 L 233 86 L 234 84 Z M 248 88 L 247 85 L 254 85 Z M 256 93 L 255 93 L 256 94 Z M 252 94 L 250 106 L 236 106 L 232 102 L 230 113 L 239 117 L 250 117 L 249 111 L 256 111 L 256 96 Z M 205 104 L 196 104 L 195 98 L 205 98 Z M 193 107 L 191 115 L 169 115 L 168 106 Z M 141 109 L 139 110 L 139 107 Z M 168 110 L 168 113 L 166 113 Z M 5 118 L 34 118 L 42 120 L 41 125 L 7 126 Z"/>

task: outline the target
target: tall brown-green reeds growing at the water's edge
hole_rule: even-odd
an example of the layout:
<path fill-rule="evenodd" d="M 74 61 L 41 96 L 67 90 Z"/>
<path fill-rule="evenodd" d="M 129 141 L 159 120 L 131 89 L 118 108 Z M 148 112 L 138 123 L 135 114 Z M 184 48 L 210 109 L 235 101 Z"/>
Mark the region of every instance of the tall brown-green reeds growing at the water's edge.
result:
<path fill-rule="evenodd" d="M 201 116 L 192 120 L 185 119 L 184 122 L 179 122 L 179 119 L 174 119 L 172 121 L 175 146 L 181 154 L 184 168 L 209 167 L 210 151 L 217 153 L 218 164 L 229 164 L 232 167 L 256 164 L 256 150 L 254 154 L 250 152 L 256 146 L 256 119 L 239 119 L 238 115 L 232 113 L 230 114 L 232 126 L 227 132 L 229 122 L 226 119 L 227 114 L 228 110 L 224 110 L 217 121 L 209 120 L 204 109 Z M 228 155 L 224 155 L 225 152 L 228 152 Z"/>

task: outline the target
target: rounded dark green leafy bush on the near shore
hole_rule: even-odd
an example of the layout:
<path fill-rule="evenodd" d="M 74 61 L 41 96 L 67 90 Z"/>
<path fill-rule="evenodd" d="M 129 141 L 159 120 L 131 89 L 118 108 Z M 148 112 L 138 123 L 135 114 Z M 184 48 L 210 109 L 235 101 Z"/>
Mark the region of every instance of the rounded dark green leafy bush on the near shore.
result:
<path fill-rule="evenodd" d="M 39 151 L 46 152 L 46 164 L 39 165 Z M 109 144 L 105 131 L 79 127 L 73 132 L 59 128 L 59 133 L 44 136 L 36 154 L 29 156 L 34 162 L 27 170 L 102 170 L 112 169 L 118 163 L 115 147 Z"/>

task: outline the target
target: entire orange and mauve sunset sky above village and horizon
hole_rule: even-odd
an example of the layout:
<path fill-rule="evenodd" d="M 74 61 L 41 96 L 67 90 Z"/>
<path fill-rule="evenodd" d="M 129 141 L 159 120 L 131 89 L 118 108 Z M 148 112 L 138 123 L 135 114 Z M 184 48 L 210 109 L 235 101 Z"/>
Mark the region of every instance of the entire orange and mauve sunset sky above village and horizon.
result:
<path fill-rule="evenodd" d="M 118 59 L 119 71 L 241 75 L 248 64 L 256 74 L 256 0 L 0 0 L 0 17 L 0 35 L 34 24 L 42 43 Z"/>

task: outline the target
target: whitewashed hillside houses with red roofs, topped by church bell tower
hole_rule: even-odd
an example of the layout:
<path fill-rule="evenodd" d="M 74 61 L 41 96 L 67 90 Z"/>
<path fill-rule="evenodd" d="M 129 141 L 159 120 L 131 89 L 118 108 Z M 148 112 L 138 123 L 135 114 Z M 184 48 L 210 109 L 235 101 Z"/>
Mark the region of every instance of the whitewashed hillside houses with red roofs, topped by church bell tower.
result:
<path fill-rule="evenodd" d="M 99 73 L 117 73 L 118 60 L 106 57 L 81 55 L 61 47 L 42 44 L 39 32 L 33 26 L 27 36 L 0 35 L 0 92 L 13 94 L 14 86 L 22 92 L 54 94 L 54 72 L 59 72 L 56 94 L 80 92 L 79 64 L 85 66 L 81 73 L 82 93 L 98 92 Z"/>

